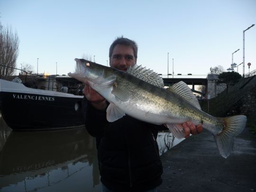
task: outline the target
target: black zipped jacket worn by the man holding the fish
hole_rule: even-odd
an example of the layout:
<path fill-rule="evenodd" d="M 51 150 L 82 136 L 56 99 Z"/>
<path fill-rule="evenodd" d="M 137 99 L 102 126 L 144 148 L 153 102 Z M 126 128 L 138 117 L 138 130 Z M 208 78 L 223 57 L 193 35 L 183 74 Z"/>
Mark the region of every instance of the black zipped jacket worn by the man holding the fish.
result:
<path fill-rule="evenodd" d="M 95 110 L 84 99 L 85 127 L 96 137 L 101 182 L 112 191 L 147 191 L 162 183 L 156 142 L 165 129 L 124 116 L 112 123 L 106 110 Z"/>

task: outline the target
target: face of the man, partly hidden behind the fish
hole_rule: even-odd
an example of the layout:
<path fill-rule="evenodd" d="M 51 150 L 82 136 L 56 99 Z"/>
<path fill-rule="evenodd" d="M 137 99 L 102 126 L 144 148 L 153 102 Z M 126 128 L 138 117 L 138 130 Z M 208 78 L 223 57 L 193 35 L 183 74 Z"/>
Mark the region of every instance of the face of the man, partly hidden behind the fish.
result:
<path fill-rule="evenodd" d="M 121 71 L 127 71 L 129 66 L 136 64 L 137 59 L 134 56 L 132 47 L 116 45 L 110 57 L 110 66 Z"/>

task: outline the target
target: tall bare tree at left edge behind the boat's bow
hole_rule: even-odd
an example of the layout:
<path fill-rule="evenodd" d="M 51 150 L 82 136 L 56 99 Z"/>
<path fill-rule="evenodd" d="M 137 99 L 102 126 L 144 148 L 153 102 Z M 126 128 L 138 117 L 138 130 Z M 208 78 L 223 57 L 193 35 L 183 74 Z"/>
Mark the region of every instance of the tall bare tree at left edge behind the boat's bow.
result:
<path fill-rule="evenodd" d="M 18 57 L 18 34 L 11 27 L 3 27 L 0 23 L 0 78 L 7 79 L 15 73 Z"/>

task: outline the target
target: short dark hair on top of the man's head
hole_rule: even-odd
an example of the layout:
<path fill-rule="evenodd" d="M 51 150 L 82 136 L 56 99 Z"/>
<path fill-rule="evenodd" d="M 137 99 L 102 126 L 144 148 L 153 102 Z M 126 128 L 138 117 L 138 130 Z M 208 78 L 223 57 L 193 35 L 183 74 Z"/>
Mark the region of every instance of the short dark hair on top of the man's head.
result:
<path fill-rule="evenodd" d="M 128 38 L 122 37 L 117 37 L 116 40 L 111 44 L 110 46 L 110 54 L 109 56 L 111 57 L 113 50 L 116 45 L 124 45 L 124 46 L 130 46 L 133 49 L 133 53 L 135 56 L 135 59 L 137 59 L 137 54 L 138 54 L 138 46 L 137 43 L 133 40 L 130 40 Z"/>

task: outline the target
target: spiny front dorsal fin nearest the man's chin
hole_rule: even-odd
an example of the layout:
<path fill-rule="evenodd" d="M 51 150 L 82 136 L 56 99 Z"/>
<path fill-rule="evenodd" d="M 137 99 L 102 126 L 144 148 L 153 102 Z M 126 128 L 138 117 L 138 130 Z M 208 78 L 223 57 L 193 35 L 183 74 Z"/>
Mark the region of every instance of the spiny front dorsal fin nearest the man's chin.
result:
<path fill-rule="evenodd" d="M 146 69 L 146 67 L 142 67 L 141 65 L 133 65 L 130 66 L 126 73 L 129 73 L 145 82 L 149 82 L 152 85 L 157 87 L 164 87 L 164 81 L 161 76 L 155 73 L 153 70 Z"/>

